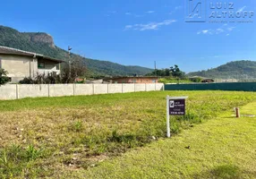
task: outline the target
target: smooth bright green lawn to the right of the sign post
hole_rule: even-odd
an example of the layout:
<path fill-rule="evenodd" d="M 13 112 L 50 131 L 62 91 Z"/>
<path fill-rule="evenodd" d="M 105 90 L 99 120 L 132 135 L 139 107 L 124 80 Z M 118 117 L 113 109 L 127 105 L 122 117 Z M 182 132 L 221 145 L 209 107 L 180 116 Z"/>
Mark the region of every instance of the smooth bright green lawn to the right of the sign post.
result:
<path fill-rule="evenodd" d="M 248 113 L 249 112 L 249 113 Z M 256 118 L 214 120 L 132 150 L 73 177 L 86 178 L 256 178 Z M 242 108 L 256 115 L 256 103 Z M 190 149 L 186 149 L 191 146 Z"/>

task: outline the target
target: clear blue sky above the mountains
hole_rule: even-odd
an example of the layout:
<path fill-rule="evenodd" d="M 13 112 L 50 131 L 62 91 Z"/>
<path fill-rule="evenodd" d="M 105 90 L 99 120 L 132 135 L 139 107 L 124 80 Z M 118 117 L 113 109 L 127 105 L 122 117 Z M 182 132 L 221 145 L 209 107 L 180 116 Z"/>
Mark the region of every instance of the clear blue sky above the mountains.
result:
<path fill-rule="evenodd" d="M 188 0 L 12 0 L 1 2 L 1 25 L 52 35 L 55 45 L 90 58 L 185 72 L 256 60 L 256 1 L 209 1 L 206 22 L 185 22 Z M 196 0 L 194 0 L 196 1 Z M 205 0 L 202 0 L 205 1 Z M 211 18 L 209 3 L 232 3 L 244 18 Z M 228 6 L 228 4 L 227 4 Z M 195 7 L 195 6 L 194 6 Z M 227 7 L 226 7 L 227 8 Z M 204 11 L 204 10 L 203 10 Z M 249 18 L 250 12 L 255 12 Z M 209 20 L 225 20 L 210 22 Z M 250 22 L 238 22 L 248 20 Z"/>

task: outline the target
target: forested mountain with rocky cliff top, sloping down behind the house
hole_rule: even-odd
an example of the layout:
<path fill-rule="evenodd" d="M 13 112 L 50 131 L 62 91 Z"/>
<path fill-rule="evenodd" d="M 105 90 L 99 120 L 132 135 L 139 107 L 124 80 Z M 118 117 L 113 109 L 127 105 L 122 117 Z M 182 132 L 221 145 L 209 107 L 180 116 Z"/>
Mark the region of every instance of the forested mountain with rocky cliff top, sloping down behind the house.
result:
<path fill-rule="evenodd" d="M 0 46 L 13 47 L 68 61 L 68 52 L 55 46 L 54 39 L 44 32 L 20 32 L 13 28 L 0 26 Z M 153 71 L 141 66 L 125 66 L 76 54 L 71 54 L 71 58 L 83 60 L 88 68 L 88 76 L 94 77 L 144 75 Z"/>

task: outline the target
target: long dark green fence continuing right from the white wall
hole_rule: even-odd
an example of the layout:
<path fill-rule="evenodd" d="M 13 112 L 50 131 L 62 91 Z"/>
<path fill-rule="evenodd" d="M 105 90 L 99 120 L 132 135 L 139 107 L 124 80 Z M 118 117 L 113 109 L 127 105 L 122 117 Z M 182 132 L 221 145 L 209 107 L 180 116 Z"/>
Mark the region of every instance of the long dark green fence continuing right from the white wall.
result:
<path fill-rule="evenodd" d="M 256 82 L 166 84 L 165 90 L 242 90 L 256 91 Z"/>

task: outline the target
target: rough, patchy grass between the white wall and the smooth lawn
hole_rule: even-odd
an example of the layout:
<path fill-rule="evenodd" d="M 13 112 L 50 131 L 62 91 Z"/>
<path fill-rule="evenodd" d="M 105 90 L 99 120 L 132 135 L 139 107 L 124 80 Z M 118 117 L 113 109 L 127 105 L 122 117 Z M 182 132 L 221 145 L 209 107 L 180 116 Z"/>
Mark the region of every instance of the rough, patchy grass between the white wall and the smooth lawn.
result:
<path fill-rule="evenodd" d="M 173 135 L 190 132 L 188 129 L 202 126 L 195 124 L 256 101 L 255 93 L 230 91 L 157 91 L 0 101 L 0 168 L 4 168 L 0 169 L 0 178 L 57 178 L 74 171 L 93 177 L 86 171 L 109 158 L 117 157 L 118 161 L 118 156 L 144 149 L 141 147 L 152 141 L 153 145 L 166 143 L 166 95 L 189 96 L 187 115 L 171 120 Z M 200 139 L 200 135 L 197 137 Z M 13 152 L 13 146 L 20 150 Z M 29 159 L 22 154 L 27 150 Z M 13 159 L 11 154 L 20 153 L 21 157 Z M 111 171 L 112 166 L 109 167 Z M 235 168 L 230 167 L 230 171 Z"/>

